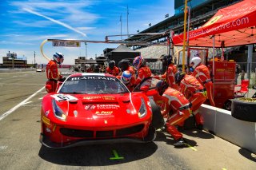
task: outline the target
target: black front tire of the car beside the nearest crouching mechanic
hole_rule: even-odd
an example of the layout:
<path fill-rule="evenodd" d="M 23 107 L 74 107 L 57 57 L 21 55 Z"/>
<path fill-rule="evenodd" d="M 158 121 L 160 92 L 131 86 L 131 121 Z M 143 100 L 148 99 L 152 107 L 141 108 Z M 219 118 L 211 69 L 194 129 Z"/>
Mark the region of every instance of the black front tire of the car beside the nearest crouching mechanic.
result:
<path fill-rule="evenodd" d="M 152 109 L 152 127 L 153 128 L 162 128 L 165 125 L 165 120 L 162 117 L 162 113 L 158 107 L 158 105 L 155 104 L 153 100 L 150 99 L 150 105 Z"/>

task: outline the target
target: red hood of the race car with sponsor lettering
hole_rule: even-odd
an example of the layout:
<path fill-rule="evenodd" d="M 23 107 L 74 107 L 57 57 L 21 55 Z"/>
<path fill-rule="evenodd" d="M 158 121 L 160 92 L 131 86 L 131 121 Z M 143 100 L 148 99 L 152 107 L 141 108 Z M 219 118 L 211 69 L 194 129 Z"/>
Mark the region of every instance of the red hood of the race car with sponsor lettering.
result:
<path fill-rule="evenodd" d="M 78 125 L 123 125 L 124 122 L 133 124 L 139 119 L 138 109 L 142 105 L 141 97 L 131 97 L 130 93 L 72 96 L 53 94 L 48 100 L 55 100 L 58 107 L 66 113 L 66 122 L 76 122 Z"/>

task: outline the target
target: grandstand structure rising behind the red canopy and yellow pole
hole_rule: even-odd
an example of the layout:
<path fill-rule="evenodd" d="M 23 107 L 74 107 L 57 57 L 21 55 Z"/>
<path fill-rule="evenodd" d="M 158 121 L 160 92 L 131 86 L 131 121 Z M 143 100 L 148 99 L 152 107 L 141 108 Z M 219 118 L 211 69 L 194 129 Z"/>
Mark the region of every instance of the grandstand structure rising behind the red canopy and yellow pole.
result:
<path fill-rule="evenodd" d="M 241 2 L 242 0 L 188 0 L 187 6 L 190 8 L 190 30 L 196 30 L 198 27 L 206 23 L 216 12 L 226 6 Z M 170 30 L 174 34 L 182 34 L 184 22 L 184 1 L 174 1 L 174 16 L 166 18 L 162 22 L 150 26 L 146 30 L 142 30 L 138 34 L 148 33 L 168 33 Z M 164 34 L 134 35 L 127 38 L 129 42 L 166 42 L 167 38 Z M 130 48 L 138 51 L 148 60 L 158 59 L 162 54 L 168 53 L 167 46 L 147 46 L 147 45 L 129 45 Z M 174 52 L 178 51 L 174 49 Z"/>

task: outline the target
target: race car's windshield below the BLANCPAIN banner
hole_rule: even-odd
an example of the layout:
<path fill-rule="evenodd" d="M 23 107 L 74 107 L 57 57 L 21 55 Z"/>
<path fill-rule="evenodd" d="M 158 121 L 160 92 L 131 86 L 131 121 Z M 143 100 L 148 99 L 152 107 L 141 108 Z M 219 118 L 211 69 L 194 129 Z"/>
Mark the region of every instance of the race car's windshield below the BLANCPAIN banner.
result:
<path fill-rule="evenodd" d="M 129 91 L 116 77 L 80 76 L 69 77 L 59 93 L 104 94 L 129 93 Z"/>

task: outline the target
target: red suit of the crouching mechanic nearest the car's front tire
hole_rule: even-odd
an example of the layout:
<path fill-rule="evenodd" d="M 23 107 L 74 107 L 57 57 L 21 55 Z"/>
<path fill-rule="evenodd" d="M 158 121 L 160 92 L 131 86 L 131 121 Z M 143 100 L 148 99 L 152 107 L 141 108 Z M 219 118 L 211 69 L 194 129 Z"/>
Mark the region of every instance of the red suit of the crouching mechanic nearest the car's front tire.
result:
<path fill-rule="evenodd" d="M 164 101 L 165 108 L 162 109 L 162 114 L 168 114 L 170 110 L 173 114 L 168 117 L 166 121 L 166 131 L 174 136 L 174 140 L 182 138 L 182 133 L 178 132 L 175 125 L 179 125 L 190 117 L 190 101 L 176 89 L 168 88 L 162 95 L 162 101 Z"/>

